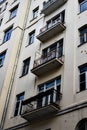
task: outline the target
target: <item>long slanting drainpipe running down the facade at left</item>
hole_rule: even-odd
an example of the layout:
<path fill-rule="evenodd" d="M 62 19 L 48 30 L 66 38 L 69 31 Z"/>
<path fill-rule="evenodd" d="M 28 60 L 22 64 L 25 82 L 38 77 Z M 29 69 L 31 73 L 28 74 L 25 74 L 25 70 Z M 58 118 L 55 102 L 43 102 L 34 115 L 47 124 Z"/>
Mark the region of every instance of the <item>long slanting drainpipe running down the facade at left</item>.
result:
<path fill-rule="evenodd" d="M 15 73 L 16 73 L 16 69 L 17 69 L 17 65 L 18 65 L 18 61 L 19 61 L 22 41 L 23 41 L 25 27 L 26 27 L 26 23 L 27 23 L 28 14 L 29 14 L 30 4 L 31 4 L 31 1 L 28 0 L 24 25 L 23 25 L 23 28 L 22 28 L 22 34 L 21 34 L 21 37 L 20 37 L 18 50 L 17 50 L 17 53 L 16 53 L 16 58 L 15 58 L 14 66 L 13 66 L 13 71 L 12 71 L 12 75 L 11 75 L 11 79 L 10 79 L 10 83 L 9 83 L 9 87 L 8 87 L 8 92 L 7 92 L 7 96 L 6 96 L 6 101 L 5 101 L 5 105 L 4 105 L 4 109 L 3 109 L 2 119 L 1 119 L 1 123 L 0 123 L 0 130 L 3 130 L 3 126 L 4 126 L 4 123 L 5 123 L 8 104 L 9 104 L 9 100 L 10 100 L 10 96 L 11 96 L 11 91 L 12 91 L 12 87 L 13 87 L 13 83 L 14 83 L 14 77 L 15 77 Z"/>

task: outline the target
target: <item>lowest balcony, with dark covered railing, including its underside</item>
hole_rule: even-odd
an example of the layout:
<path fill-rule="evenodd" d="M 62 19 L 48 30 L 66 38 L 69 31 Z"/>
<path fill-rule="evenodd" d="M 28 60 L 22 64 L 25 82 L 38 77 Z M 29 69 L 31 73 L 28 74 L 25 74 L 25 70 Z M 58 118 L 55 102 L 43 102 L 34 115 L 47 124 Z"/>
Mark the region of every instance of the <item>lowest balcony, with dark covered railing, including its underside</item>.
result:
<path fill-rule="evenodd" d="M 21 117 L 32 123 L 54 116 L 60 109 L 61 96 L 61 93 L 52 88 L 23 101 Z"/>

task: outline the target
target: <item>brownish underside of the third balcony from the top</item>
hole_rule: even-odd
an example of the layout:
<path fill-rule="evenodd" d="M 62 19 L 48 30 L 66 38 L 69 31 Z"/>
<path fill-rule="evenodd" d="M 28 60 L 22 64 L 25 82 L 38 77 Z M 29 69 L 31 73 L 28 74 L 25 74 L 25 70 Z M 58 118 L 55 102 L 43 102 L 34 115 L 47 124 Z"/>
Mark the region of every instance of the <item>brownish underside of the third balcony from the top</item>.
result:
<path fill-rule="evenodd" d="M 31 70 L 32 73 L 34 73 L 37 76 L 40 76 L 42 74 L 45 74 L 46 72 L 50 72 L 52 69 L 58 68 L 63 64 L 63 61 L 61 61 L 58 58 L 52 59 L 51 61 L 48 61 L 46 63 L 43 63 Z"/>

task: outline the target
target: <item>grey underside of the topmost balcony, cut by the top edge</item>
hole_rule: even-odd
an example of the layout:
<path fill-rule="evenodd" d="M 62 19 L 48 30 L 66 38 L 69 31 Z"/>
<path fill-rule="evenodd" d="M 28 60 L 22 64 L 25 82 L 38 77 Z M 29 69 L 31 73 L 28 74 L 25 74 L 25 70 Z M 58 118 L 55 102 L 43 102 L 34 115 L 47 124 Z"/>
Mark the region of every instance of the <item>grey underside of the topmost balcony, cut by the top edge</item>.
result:
<path fill-rule="evenodd" d="M 51 14 L 53 11 L 62 6 L 67 0 L 55 0 L 49 6 L 43 8 L 41 13 L 45 14 L 45 16 Z"/>

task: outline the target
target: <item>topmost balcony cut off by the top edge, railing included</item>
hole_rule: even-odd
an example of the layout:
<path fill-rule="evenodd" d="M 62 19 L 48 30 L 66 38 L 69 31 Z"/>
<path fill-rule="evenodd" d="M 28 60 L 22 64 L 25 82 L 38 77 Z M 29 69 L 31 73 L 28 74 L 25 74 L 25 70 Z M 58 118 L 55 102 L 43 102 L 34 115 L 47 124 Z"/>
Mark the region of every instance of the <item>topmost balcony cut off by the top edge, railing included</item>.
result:
<path fill-rule="evenodd" d="M 41 13 L 45 14 L 45 16 L 51 14 L 53 11 L 58 9 L 60 6 L 65 4 L 67 0 L 48 0 L 43 3 L 43 9 Z"/>

